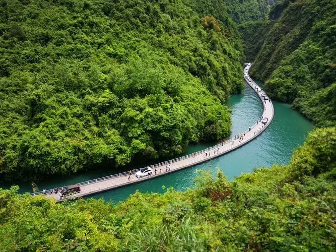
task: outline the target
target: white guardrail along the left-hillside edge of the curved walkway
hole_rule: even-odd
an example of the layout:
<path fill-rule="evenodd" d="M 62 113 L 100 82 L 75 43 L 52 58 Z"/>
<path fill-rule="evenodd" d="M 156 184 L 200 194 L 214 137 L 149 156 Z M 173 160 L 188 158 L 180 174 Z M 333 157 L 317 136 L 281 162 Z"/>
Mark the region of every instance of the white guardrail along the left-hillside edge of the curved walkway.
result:
<path fill-rule="evenodd" d="M 249 76 L 248 76 L 249 78 Z M 257 95 L 259 96 L 260 100 L 261 100 L 261 103 L 262 103 L 262 106 L 263 106 L 263 111 L 265 110 L 265 104 L 263 102 L 263 99 L 261 97 L 261 94 L 259 94 L 260 92 L 257 91 L 257 88 L 259 87 L 256 83 L 254 83 L 252 81 L 252 84 L 250 84 L 248 82 L 248 78 L 245 78 L 244 76 L 244 79 L 245 79 L 245 82 L 251 86 L 251 88 L 257 93 Z M 256 88 L 255 88 L 256 87 Z M 260 88 L 260 87 L 259 87 Z M 274 111 L 274 108 L 273 108 L 273 105 L 272 105 L 272 109 Z M 274 112 L 273 112 L 274 114 Z M 271 121 L 269 121 L 267 124 L 270 124 Z M 257 123 L 254 123 L 251 127 L 249 127 L 248 130 L 244 131 L 243 133 L 240 133 L 238 134 L 238 138 L 240 135 L 244 135 L 246 134 L 247 132 L 250 131 L 250 129 L 254 128 L 255 126 L 257 125 Z M 264 130 L 265 130 L 266 127 L 264 127 L 264 129 L 262 129 L 260 132 L 256 133 L 255 134 L 255 137 L 259 134 L 261 134 Z M 182 157 L 178 157 L 178 158 L 174 158 L 174 159 L 171 159 L 171 160 L 168 160 L 168 161 L 165 161 L 165 162 L 161 162 L 161 163 L 158 163 L 158 164 L 153 164 L 153 165 L 148 165 L 148 166 L 145 166 L 143 168 L 146 168 L 146 167 L 150 167 L 152 169 L 155 169 L 155 168 L 158 168 L 158 167 L 161 167 L 161 166 L 165 166 L 165 165 L 169 165 L 169 164 L 172 164 L 172 163 L 175 163 L 175 162 L 178 162 L 178 161 L 181 161 L 181 160 L 184 160 L 184 159 L 187 159 L 187 158 L 190 158 L 190 157 L 193 157 L 194 155 L 199 155 L 199 154 L 202 154 L 202 153 L 205 153 L 205 152 L 208 152 L 208 151 L 211 151 L 213 149 L 217 149 L 219 148 L 220 146 L 223 146 L 229 142 L 232 142 L 233 138 L 232 139 L 229 139 L 227 141 L 224 141 L 224 142 L 221 142 L 215 146 L 212 146 L 212 147 L 209 147 L 207 149 L 204 149 L 204 150 L 201 150 L 201 151 L 197 151 L 197 152 L 194 152 L 194 153 L 191 153 L 191 154 L 188 154 L 188 155 L 185 155 L 185 156 L 182 156 Z M 131 173 L 134 174 L 136 173 L 137 171 L 140 171 L 141 169 L 143 168 L 138 168 L 138 169 L 133 169 L 131 170 Z M 125 171 L 125 172 L 121 172 L 121 173 L 118 173 L 118 174 L 113 174 L 113 175 L 109 175 L 109 176 L 105 176 L 105 177 L 101 177 L 101 178 L 96 178 L 96 179 L 91 179 L 91 180 L 87 180 L 85 182 L 80 182 L 80 183 L 76 183 L 80 186 L 83 186 L 83 185 L 88 185 L 88 184 L 92 184 L 92 183 L 97 183 L 97 182 L 100 182 L 100 181 L 105 181 L 105 180 L 109 180 L 109 179 L 113 179 L 113 178 L 117 178 L 117 177 L 121 177 L 121 176 L 127 176 L 127 174 L 130 174 L 129 171 Z M 58 191 L 61 191 L 63 188 L 66 188 L 68 186 L 61 186 L 61 187 L 57 187 L 57 190 Z M 98 190 L 97 190 L 98 188 Z M 90 188 L 90 192 L 100 192 L 100 187 L 93 187 L 93 188 Z M 84 191 L 88 191 L 88 190 L 84 190 Z M 84 192 L 83 191 L 83 192 Z M 46 194 L 50 194 L 50 193 L 54 193 L 55 192 L 55 188 L 53 189 L 50 189 L 50 190 L 45 190 L 45 193 Z M 83 193 L 81 191 L 81 193 Z M 35 195 L 41 195 L 41 194 L 44 194 L 43 191 L 40 191 L 40 192 L 36 192 L 36 193 L 31 193 L 30 195 L 31 196 L 35 196 Z M 68 197 L 67 197 L 68 198 Z M 71 198 L 71 195 L 69 196 L 69 198 Z"/>

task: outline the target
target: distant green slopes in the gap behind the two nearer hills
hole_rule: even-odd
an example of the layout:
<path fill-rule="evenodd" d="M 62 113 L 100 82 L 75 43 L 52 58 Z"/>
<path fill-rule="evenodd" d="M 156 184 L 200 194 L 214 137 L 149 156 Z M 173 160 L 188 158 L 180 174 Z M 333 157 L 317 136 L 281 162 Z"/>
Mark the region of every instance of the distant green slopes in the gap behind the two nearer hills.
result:
<path fill-rule="evenodd" d="M 272 17 L 279 13 L 274 13 L 273 5 L 278 5 L 278 9 L 286 8 L 286 3 L 278 0 L 184 0 L 193 10 L 201 16 L 214 16 L 226 26 L 235 27 L 238 24 L 244 54 L 247 61 L 253 61 L 264 42 L 264 37 L 273 25 L 273 21 L 268 20 L 270 11 Z M 285 5 L 285 6 L 284 6 Z M 232 20 L 234 22 L 232 22 Z"/>

